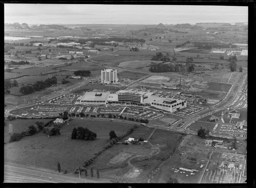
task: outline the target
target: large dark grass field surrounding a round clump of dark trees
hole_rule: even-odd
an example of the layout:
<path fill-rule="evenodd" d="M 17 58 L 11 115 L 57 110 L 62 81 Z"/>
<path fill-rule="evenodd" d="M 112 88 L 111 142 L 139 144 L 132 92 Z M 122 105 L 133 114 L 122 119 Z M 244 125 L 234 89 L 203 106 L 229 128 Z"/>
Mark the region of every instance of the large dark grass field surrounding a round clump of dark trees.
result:
<path fill-rule="evenodd" d="M 74 127 L 84 127 L 97 133 L 94 141 L 69 140 Z M 61 169 L 74 173 L 75 168 L 83 166 L 85 160 L 101 151 L 108 143 L 109 132 L 114 130 L 117 135 L 124 134 L 130 125 L 119 123 L 106 123 L 100 121 L 73 120 L 69 125 L 61 128 L 60 136 L 46 138 L 40 132 L 33 136 L 25 137 L 18 142 L 5 144 L 4 158 L 13 161 L 22 161 L 37 166 L 57 171 L 57 161 Z M 74 154 L 75 153 L 75 154 Z"/>

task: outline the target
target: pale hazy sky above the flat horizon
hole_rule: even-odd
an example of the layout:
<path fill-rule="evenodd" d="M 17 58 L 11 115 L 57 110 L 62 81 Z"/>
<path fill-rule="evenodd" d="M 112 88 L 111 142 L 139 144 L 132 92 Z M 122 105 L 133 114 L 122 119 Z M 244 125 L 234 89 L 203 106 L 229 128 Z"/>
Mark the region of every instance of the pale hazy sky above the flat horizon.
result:
<path fill-rule="evenodd" d="M 20 24 L 233 23 L 248 22 L 248 7 L 5 3 L 4 21 Z"/>

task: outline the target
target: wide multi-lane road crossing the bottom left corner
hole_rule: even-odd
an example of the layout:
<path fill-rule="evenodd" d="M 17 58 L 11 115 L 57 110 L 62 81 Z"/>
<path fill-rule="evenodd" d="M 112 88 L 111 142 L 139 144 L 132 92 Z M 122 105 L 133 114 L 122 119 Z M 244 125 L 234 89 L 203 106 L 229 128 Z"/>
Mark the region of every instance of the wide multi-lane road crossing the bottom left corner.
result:
<path fill-rule="evenodd" d="M 42 171 L 30 166 L 6 162 L 4 163 L 4 183 L 104 183 L 104 181 L 89 180 L 85 176 L 79 178 L 79 175 L 76 178 L 73 175 Z"/>

